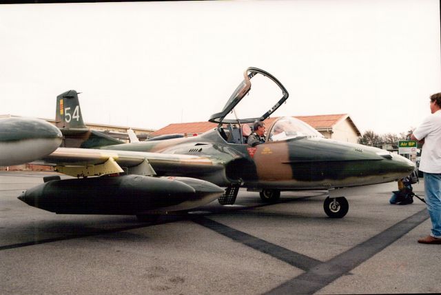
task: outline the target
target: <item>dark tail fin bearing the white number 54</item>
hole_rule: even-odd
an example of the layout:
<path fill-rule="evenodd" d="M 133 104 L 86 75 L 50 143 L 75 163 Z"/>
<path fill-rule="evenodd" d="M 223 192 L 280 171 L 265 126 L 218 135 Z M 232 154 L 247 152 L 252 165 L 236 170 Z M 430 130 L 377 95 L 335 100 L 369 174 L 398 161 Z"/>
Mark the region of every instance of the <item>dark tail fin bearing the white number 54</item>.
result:
<path fill-rule="evenodd" d="M 61 130 L 88 130 L 81 114 L 78 92 L 75 90 L 63 92 L 57 96 L 55 125 Z"/>

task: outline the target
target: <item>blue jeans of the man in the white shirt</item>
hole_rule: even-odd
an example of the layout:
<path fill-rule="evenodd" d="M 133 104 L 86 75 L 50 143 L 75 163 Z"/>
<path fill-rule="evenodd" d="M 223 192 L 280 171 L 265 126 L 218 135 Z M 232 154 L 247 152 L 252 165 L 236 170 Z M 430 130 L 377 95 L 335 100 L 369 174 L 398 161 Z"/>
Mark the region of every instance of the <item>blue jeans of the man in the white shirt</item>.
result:
<path fill-rule="evenodd" d="M 441 238 L 441 174 L 424 172 L 424 193 L 432 221 L 431 236 Z"/>

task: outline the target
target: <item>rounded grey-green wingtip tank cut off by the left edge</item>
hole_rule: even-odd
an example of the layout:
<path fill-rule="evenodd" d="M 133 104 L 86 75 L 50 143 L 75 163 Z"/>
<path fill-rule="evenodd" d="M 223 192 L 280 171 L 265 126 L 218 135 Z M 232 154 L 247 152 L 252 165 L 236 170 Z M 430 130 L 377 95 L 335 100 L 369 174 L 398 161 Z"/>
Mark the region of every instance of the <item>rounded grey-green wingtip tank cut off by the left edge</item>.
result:
<path fill-rule="evenodd" d="M 0 119 L 0 166 L 28 163 L 56 150 L 63 138 L 54 125 L 23 117 Z"/>

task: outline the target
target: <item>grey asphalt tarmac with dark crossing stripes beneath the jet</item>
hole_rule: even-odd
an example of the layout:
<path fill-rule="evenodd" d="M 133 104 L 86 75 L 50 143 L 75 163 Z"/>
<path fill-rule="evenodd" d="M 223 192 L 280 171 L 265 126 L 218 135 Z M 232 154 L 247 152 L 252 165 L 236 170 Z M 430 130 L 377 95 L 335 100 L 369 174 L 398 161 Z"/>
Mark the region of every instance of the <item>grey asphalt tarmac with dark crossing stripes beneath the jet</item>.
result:
<path fill-rule="evenodd" d="M 417 243 L 431 224 L 415 198 L 390 205 L 390 191 L 367 190 L 331 219 L 325 192 L 283 192 L 268 205 L 244 190 L 236 205 L 142 223 L 17 199 L 47 175 L 0 172 L 0 294 L 441 292 L 441 245 Z M 422 182 L 413 188 L 424 196 Z"/>

